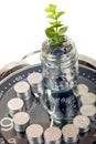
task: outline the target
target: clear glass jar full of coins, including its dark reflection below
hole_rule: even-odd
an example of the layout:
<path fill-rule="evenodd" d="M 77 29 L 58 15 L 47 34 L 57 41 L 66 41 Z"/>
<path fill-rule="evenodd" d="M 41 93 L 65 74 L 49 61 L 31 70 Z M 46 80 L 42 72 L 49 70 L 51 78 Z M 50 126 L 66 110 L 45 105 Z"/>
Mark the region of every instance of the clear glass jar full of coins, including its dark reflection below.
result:
<path fill-rule="evenodd" d="M 78 54 L 75 43 L 67 37 L 55 48 L 51 48 L 50 42 L 46 40 L 42 43 L 41 52 L 43 84 L 51 91 L 43 99 L 55 120 L 71 119 L 78 106 L 75 95 Z"/>

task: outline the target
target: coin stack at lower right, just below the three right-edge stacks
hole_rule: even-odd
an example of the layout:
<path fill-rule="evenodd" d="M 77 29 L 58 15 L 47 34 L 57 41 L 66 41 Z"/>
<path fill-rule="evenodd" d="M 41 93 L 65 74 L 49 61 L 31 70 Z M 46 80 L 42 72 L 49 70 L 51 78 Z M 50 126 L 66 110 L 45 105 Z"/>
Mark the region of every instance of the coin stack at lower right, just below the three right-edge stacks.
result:
<path fill-rule="evenodd" d="M 87 132 L 89 130 L 90 121 L 87 116 L 77 115 L 74 117 L 73 123 L 79 128 L 81 133 Z"/>

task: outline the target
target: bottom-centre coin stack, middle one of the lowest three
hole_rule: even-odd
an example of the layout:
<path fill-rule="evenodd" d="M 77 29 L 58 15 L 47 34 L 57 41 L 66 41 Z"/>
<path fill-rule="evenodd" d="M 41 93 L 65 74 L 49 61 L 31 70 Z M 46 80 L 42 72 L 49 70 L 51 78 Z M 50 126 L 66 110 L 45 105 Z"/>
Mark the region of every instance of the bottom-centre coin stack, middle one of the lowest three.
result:
<path fill-rule="evenodd" d="M 60 144 L 62 140 L 62 131 L 58 127 L 52 126 L 45 130 L 44 141 L 45 144 L 54 143 Z"/>

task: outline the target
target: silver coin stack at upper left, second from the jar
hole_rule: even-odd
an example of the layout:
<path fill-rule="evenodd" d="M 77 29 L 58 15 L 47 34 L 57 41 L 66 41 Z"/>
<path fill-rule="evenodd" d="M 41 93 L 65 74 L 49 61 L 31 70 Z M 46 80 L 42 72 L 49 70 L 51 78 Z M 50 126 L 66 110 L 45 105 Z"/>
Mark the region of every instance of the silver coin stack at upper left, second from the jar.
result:
<path fill-rule="evenodd" d="M 28 82 L 21 81 L 15 83 L 14 91 L 17 96 L 23 101 L 28 101 L 31 97 L 30 84 Z"/>

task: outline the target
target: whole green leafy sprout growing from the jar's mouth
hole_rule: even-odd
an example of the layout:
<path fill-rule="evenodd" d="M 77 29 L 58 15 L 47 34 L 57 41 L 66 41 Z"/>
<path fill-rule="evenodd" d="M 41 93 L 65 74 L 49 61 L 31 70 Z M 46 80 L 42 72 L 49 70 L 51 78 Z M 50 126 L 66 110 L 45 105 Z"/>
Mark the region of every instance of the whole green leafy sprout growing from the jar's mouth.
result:
<path fill-rule="evenodd" d="M 47 38 L 50 38 L 52 41 L 50 43 L 51 48 L 55 48 L 56 45 L 60 45 L 64 41 L 64 33 L 67 30 L 67 27 L 64 25 L 58 18 L 63 16 L 64 11 L 57 11 L 56 4 L 49 4 L 49 7 L 45 9 L 45 12 L 49 14 L 46 18 L 51 19 L 50 21 L 51 27 L 45 29 L 45 34 Z"/>

